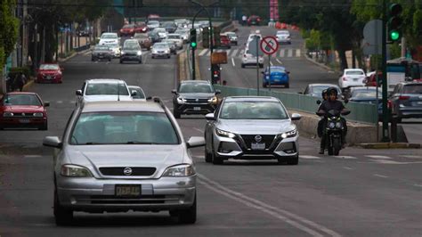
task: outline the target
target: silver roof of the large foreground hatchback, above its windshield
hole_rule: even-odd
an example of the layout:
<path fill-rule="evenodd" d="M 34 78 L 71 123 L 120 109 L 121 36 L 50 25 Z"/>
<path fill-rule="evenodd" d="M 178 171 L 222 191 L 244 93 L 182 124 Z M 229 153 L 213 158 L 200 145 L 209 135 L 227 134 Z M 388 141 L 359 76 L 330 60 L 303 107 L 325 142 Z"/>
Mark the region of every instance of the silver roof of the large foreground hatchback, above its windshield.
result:
<path fill-rule="evenodd" d="M 106 111 L 142 111 L 142 112 L 165 112 L 158 102 L 139 101 L 107 101 L 85 102 L 82 112 L 106 112 Z"/>

